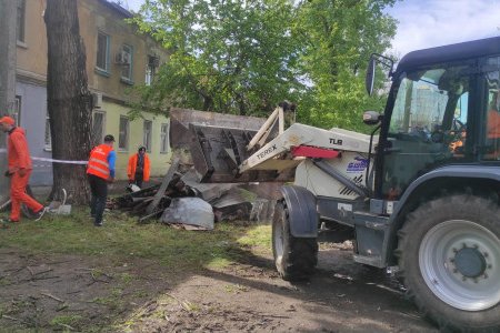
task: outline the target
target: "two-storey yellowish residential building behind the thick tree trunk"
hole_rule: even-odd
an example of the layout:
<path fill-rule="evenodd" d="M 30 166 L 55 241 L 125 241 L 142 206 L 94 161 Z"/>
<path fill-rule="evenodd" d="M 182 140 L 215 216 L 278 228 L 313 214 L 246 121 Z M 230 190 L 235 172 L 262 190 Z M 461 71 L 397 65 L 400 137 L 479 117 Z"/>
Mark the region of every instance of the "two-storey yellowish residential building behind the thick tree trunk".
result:
<path fill-rule="evenodd" d="M 17 85 L 14 117 L 27 130 L 31 155 L 51 158 L 51 137 L 47 110 L 47 32 L 43 21 L 46 0 L 17 0 Z M 147 112 L 130 119 L 128 94 L 137 84 L 150 84 L 168 53 L 150 37 L 140 34 L 124 20 L 132 14 L 106 0 L 79 0 L 80 34 L 87 52 L 89 89 L 94 97 L 92 140 L 106 134 L 117 139 L 117 179 L 127 178 L 130 154 L 140 145 L 151 158 L 151 174 L 168 169 L 169 121 Z M 52 165 L 33 163 L 32 185 L 52 183 Z"/>

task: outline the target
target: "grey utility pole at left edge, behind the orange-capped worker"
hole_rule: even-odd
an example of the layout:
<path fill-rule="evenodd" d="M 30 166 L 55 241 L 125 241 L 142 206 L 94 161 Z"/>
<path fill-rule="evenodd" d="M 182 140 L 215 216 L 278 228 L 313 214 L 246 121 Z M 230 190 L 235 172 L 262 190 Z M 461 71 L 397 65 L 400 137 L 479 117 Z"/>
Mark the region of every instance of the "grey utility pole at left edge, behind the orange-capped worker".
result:
<path fill-rule="evenodd" d="M 16 18 L 17 3 L 0 0 L 0 115 L 11 114 L 16 104 Z M 9 195 L 6 134 L 0 133 L 0 204 Z"/>

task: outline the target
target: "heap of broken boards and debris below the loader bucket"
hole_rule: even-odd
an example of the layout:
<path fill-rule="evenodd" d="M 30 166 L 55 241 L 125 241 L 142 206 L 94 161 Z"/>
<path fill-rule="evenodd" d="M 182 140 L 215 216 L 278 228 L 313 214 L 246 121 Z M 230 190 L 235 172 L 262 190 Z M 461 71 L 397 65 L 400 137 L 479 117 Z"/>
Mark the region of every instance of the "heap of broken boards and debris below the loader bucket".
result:
<path fill-rule="evenodd" d="M 272 221 L 278 184 L 200 183 L 193 169 L 180 169 L 172 163 L 161 184 L 116 198 L 109 208 L 139 216 L 139 223 L 159 219 L 187 230 L 212 230 L 219 221 Z"/>

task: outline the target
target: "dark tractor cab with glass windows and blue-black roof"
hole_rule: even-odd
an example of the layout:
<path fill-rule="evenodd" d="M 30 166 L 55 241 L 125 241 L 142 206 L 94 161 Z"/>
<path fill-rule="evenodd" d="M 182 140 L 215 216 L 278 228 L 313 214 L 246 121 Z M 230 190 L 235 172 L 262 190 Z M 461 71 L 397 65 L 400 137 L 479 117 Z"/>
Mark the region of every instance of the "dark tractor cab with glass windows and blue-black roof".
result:
<path fill-rule="evenodd" d="M 392 88 L 381 118 L 378 199 L 400 200 L 413 181 L 438 168 L 499 161 L 499 53 L 500 39 L 491 38 L 401 59 L 390 73 Z M 376 68 L 369 67 L 369 78 Z M 373 81 L 367 82 L 371 92 Z"/>

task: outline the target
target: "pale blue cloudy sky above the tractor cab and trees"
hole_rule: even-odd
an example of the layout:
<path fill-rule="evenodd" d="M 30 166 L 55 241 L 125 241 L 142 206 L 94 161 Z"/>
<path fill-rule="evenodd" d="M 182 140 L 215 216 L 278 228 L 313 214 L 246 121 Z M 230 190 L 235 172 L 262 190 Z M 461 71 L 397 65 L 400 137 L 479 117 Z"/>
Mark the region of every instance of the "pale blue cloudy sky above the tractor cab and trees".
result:
<path fill-rule="evenodd" d="M 143 0 L 121 0 L 137 11 Z M 398 31 L 392 54 L 500 36 L 500 0 L 402 0 L 387 12 Z"/>

